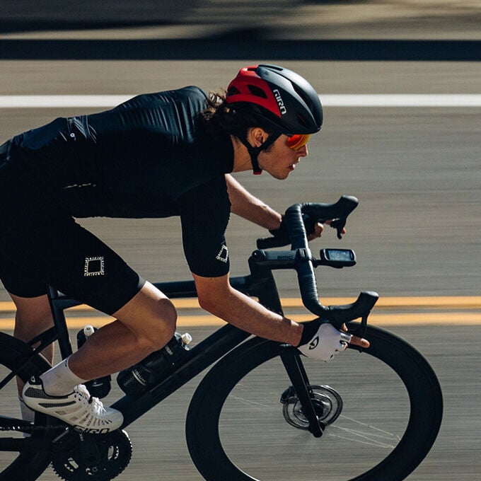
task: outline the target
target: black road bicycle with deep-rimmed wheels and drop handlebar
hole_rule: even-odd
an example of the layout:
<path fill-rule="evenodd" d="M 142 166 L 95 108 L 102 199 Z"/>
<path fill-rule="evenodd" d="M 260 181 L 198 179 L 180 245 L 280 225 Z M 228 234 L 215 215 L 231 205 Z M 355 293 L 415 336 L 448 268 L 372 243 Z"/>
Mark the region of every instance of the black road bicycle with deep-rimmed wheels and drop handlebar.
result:
<path fill-rule="evenodd" d="M 114 402 L 124 424 L 110 434 L 79 433 L 40 413 L 34 423 L 26 422 L 13 416 L 11 407 L 0 416 L 0 451 L 4 458 L 10 456 L 8 465 L 1 465 L 0 479 L 35 480 L 50 463 L 65 480 L 112 479 L 132 456 L 124 429 L 214 363 L 192 396 L 185 425 L 190 456 L 205 480 L 405 479 L 427 456 L 441 425 L 436 374 L 410 344 L 367 325 L 376 293 L 363 292 L 345 306 L 320 303 L 314 268 L 347 267 L 356 259 L 352 250 L 336 249 L 321 250 L 316 259 L 303 224 L 303 215 L 336 219 L 332 226 L 341 237 L 357 202 L 343 196 L 335 204 L 290 207 L 291 249 L 267 250 L 281 243 L 258 239 L 248 261 L 250 274 L 233 277 L 231 283 L 282 313 L 272 272 L 294 269 L 306 308 L 338 328 L 346 323 L 349 332 L 371 342 L 369 349 L 349 346 L 334 362 L 321 363 L 289 345 L 225 325 L 186 351 L 155 385 Z M 196 295 L 193 281 L 156 286 L 171 298 Z M 52 288 L 50 299 L 50 330 L 29 343 L 0 332 L 0 396 L 16 392 L 15 376 L 25 381 L 50 367 L 40 354 L 48 344 L 58 342 L 62 357 L 72 352 L 64 309 L 78 302 Z M 253 433 L 262 436 L 262 446 L 250 443 Z"/>

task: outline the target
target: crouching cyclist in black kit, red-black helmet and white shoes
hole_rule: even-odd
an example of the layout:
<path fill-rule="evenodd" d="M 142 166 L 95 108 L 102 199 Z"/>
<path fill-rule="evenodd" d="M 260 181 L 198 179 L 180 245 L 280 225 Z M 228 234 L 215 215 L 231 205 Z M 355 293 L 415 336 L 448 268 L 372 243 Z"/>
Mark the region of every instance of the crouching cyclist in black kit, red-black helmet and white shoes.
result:
<path fill-rule="evenodd" d="M 57 118 L 1 146 L 0 278 L 16 304 L 14 334 L 30 340 L 52 325 L 47 284 L 115 318 L 26 383 L 25 405 L 84 431 L 117 429 L 122 414 L 83 383 L 137 363 L 175 331 L 173 303 L 75 218 L 178 215 L 202 308 L 325 361 L 347 342 L 369 345 L 320 320 L 303 326 L 267 311 L 228 281 L 231 212 L 285 236 L 282 216 L 231 173 L 287 178 L 322 122 L 318 94 L 303 77 L 260 64 L 241 69 L 225 93 L 191 86 L 138 95 L 106 112 Z M 311 238 L 323 231 L 312 219 L 306 226 Z"/>

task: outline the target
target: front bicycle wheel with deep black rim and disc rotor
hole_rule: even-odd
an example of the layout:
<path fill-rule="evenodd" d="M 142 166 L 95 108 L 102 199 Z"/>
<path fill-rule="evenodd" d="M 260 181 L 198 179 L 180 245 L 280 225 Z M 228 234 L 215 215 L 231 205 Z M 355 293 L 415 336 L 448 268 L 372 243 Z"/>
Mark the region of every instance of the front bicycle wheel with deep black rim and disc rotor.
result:
<path fill-rule="evenodd" d="M 331 363 L 301 357 L 324 434 L 308 431 L 279 357 L 253 338 L 197 387 L 187 445 L 207 481 L 400 481 L 429 452 L 443 402 L 434 371 L 413 347 L 368 328 L 371 347 Z"/>

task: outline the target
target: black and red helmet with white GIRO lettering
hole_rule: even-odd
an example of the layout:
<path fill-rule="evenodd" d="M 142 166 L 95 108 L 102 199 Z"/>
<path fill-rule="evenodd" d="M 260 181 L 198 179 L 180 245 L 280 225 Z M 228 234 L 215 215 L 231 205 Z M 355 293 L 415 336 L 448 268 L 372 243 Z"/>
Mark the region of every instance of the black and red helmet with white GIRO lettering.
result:
<path fill-rule="evenodd" d="M 314 134 L 323 124 L 323 108 L 313 86 L 281 66 L 240 69 L 227 88 L 226 102 L 261 117 L 280 134 Z"/>

